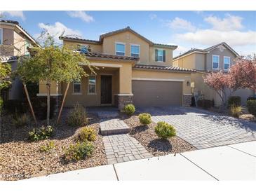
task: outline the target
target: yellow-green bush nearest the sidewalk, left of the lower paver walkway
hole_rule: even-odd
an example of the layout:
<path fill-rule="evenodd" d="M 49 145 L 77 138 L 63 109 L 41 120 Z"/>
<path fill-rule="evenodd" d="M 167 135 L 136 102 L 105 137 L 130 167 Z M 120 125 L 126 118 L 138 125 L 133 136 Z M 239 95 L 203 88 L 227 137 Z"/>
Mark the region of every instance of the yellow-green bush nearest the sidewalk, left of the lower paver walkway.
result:
<path fill-rule="evenodd" d="M 64 159 L 66 161 L 77 161 L 90 157 L 93 153 L 93 144 L 90 142 L 77 142 L 76 144 L 69 145 L 64 154 Z"/>

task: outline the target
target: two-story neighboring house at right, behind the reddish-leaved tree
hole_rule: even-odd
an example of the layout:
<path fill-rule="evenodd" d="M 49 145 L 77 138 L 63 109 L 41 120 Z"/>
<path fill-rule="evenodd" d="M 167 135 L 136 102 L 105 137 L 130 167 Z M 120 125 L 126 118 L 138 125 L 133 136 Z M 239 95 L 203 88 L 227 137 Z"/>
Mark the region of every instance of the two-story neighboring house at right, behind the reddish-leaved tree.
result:
<path fill-rule="evenodd" d="M 219 43 L 206 49 L 191 49 L 173 58 L 173 66 L 196 69 L 195 74 L 191 74 L 191 88 L 195 95 L 201 95 L 206 100 L 214 100 L 215 105 L 221 104 L 220 96 L 208 88 L 203 83 L 203 76 L 211 71 L 229 71 L 229 67 L 234 64 L 238 53 L 227 43 Z M 252 90 L 236 90 L 233 95 L 240 96 L 242 104 L 246 99 L 253 95 Z M 227 98 L 226 98 L 227 100 Z"/>

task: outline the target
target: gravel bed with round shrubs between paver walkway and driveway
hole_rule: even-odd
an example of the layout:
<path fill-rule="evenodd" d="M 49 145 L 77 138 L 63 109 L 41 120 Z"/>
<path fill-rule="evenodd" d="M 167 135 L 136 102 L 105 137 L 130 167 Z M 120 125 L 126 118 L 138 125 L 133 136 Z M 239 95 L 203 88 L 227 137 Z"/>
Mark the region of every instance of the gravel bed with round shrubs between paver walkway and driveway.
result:
<path fill-rule="evenodd" d="M 180 137 L 172 137 L 170 139 L 159 139 L 154 128 L 156 123 L 149 125 L 141 125 L 137 116 L 131 116 L 123 120 L 130 128 L 130 136 L 135 137 L 150 153 L 154 156 L 163 156 L 168 153 L 181 153 L 184 151 L 192 151 L 196 148 L 185 142 Z"/>

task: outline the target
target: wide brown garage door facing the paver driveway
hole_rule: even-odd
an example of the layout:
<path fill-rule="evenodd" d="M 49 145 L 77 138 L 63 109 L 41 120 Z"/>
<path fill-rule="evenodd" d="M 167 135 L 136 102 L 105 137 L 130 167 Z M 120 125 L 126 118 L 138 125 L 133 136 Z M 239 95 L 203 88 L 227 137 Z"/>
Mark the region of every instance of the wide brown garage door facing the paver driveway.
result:
<path fill-rule="evenodd" d="M 163 107 L 182 104 L 182 82 L 133 80 L 135 107 Z"/>

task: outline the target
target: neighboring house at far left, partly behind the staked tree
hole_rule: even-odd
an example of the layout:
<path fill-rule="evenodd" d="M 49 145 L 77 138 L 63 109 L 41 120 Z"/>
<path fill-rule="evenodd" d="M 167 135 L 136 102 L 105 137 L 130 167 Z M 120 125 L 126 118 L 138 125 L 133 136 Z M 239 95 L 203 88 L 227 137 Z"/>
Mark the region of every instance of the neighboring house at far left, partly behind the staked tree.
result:
<path fill-rule="evenodd" d="M 29 55 L 28 46 L 39 46 L 17 21 L 0 20 L 0 62 L 11 64 L 12 70 L 18 65 L 18 56 Z M 15 78 L 11 88 L 1 91 L 4 100 L 19 100 L 22 97 L 22 83 Z"/>

